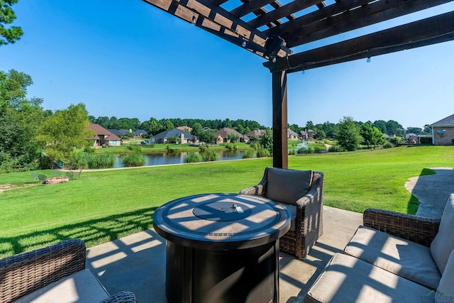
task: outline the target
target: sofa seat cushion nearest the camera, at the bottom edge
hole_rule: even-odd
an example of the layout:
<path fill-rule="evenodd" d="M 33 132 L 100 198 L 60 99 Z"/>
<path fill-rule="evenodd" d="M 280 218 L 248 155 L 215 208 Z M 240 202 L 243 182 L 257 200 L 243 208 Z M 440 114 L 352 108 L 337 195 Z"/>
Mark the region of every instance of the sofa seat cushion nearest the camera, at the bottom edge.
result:
<path fill-rule="evenodd" d="M 433 292 L 426 287 L 350 255 L 336 253 L 307 292 L 304 303 L 414 303 L 434 302 L 433 298 Z"/>

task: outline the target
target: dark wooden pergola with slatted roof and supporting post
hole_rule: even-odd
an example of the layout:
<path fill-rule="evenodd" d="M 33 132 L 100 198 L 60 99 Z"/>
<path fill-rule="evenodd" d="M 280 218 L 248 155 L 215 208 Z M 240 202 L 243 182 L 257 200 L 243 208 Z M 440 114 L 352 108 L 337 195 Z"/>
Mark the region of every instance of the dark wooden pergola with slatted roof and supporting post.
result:
<path fill-rule="evenodd" d="M 230 11 L 223 7 L 234 0 L 143 1 L 265 58 L 263 65 L 272 72 L 275 167 L 288 167 L 288 73 L 454 40 L 450 11 L 300 53 L 292 50 L 454 0 L 240 0 Z"/>

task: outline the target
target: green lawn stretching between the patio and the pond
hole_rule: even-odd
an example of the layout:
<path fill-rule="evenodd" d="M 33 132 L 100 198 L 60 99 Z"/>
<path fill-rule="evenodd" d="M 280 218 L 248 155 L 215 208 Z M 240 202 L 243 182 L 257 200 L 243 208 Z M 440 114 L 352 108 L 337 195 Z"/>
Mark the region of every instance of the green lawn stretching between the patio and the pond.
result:
<path fill-rule="evenodd" d="M 239 192 L 260 182 L 271 158 L 82 172 L 79 180 L 41 185 L 30 172 L 0 175 L 0 256 L 82 238 L 87 246 L 152 226 L 153 211 L 172 199 L 204 192 Z M 325 173 L 324 203 L 362 212 L 368 207 L 414 214 L 409 177 L 454 167 L 451 146 L 289 157 L 289 168 Z M 43 171 L 48 176 L 51 171 Z M 41 172 L 40 172 L 41 173 Z"/>

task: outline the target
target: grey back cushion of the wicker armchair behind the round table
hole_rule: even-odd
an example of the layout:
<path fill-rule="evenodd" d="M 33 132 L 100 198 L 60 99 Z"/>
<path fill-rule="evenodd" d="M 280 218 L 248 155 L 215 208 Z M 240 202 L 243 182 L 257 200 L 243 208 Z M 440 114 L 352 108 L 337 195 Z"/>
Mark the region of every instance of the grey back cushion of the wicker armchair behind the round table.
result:
<path fill-rule="evenodd" d="M 283 170 L 270 167 L 267 180 L 267 198 L 285 204 L 297 204 L 297 199 L 309 192 L 311 170 Z"/>

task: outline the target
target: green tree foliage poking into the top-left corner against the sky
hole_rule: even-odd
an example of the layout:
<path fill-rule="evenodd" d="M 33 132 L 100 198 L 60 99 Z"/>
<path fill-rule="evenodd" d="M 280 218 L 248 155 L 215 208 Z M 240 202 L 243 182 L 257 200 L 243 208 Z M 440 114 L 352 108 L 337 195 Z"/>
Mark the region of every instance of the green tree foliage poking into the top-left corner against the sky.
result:
<path fill-rule="evenodd" d="M 16 4 L 18 0 L 0 0 L 0 46 L 13 44 L 17 40 L 21 39 L 23 35 L 22 28 L 19 26 L 11 26 L 6 28 L 4 25 L 13 23 L 16 19 L 16 13 L 14 13 L 11 6 Z"/>

